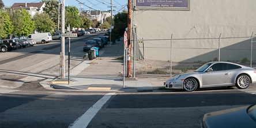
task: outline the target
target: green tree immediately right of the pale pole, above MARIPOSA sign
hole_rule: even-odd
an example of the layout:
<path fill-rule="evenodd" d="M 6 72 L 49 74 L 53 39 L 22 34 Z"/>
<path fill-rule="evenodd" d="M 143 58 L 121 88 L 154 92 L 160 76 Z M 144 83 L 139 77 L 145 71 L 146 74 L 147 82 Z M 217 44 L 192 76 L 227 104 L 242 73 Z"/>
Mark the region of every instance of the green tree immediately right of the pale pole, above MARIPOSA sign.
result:
<path fill-rule="evenodd" d="M 65 28 L 70 25 L 72 27 L 79 27 L 79 11 L 76 6 L 67 6 L 65 9 Z"/>

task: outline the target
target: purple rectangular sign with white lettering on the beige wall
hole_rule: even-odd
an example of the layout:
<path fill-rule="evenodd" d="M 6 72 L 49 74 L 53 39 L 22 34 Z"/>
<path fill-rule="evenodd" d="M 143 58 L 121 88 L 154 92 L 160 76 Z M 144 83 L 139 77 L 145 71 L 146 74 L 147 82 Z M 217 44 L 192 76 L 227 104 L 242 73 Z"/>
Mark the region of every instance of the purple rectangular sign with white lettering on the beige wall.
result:
<path fill-rule="evenodd" d="M 135 10 L 190 10 L 190 0 L 133 0 Z"/>

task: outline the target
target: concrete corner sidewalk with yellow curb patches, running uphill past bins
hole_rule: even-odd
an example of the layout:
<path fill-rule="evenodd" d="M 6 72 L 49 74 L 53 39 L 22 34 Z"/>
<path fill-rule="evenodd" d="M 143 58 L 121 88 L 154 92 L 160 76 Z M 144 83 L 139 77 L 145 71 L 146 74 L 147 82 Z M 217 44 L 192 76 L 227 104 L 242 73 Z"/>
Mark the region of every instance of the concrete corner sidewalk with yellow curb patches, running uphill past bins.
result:
<path fill-rule="evenodd" d="M 91 61 L 83 61 L 70 70 L 70 82 L 67 73 L 65 79 L 45 80 L 40 82 L 47 89 L 68 89 L 76 91 L 106 92 L 140 92 L 156 91 L 163 86 L 163 80 L 157 78 L 140 78 L 123 83 L 123 38 L 110 46 L 99 50 L 99 57 Z M 69 83 L 68 83 L 69 82 Z"/>

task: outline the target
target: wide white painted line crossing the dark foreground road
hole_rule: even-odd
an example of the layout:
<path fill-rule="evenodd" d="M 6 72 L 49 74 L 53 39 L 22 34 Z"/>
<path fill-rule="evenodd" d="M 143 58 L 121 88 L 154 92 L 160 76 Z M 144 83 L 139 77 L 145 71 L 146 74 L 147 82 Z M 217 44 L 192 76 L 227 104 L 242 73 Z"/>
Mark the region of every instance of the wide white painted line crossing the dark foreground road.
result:
<path fill-rule="evenodd" d="M 88 124 L 92 121 L 92 118 L 97 114 L 97 112 L 101 109 L 101 107 L 110 99 L 112 95 L 115 95 L 114 92 L 107 93 L 100 100 L 98 100 L 89 110 L 85 112 L 84 115 L 80 116 L 73 124 L 71 124 L 70 128 L 81 128 L 87 127 Z"/>

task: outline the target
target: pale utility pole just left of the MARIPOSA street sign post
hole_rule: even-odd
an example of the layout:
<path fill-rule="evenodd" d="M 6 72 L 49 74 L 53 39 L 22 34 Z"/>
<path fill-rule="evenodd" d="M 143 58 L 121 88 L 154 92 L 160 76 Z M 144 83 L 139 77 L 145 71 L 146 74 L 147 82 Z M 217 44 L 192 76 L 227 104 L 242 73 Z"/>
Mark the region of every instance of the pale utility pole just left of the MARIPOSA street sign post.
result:
<path fill-rule="evenodd" d="M 61 33 L 65 34 L 65 0 L 61 0 Z M 61 79 L 65 78 L 65 37 L 61 37 Z"/>

